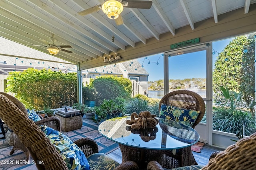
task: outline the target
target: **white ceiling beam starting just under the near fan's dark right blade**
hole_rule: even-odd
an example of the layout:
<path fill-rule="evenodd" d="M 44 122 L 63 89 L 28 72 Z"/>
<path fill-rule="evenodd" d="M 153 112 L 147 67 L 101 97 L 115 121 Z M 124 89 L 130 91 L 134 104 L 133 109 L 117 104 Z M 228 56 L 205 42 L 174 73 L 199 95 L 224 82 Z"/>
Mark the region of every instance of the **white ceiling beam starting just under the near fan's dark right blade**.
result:
<path fill-rule="evenodd" d="M 137 8 L 130 8 L 132 13 L 140 20 L 140 22 L 152 33 L 152 35 L 157 39 L 160 40 L 159 33 L 154 29 L 154 27 L 148 22 L 148 20 L 141 14 L 141 12 Z"/>

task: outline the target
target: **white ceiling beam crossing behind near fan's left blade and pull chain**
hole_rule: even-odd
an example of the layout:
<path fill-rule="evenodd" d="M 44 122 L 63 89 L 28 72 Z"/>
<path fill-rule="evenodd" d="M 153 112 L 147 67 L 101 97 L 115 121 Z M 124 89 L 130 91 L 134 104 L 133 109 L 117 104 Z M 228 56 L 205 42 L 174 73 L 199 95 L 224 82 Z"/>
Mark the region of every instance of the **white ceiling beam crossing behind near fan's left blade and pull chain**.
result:
<path fill-rule="evenodd" d="M 91 8 L 89 5 L 87 5 L 85 2 L 83 2 L 81 0 L 74 0 L 74 2 L 76 2 L 76 4 L 78 4 L 81 8 L 84 8 L 84 9 Z M 98 14 L 98 12 L 94 12 L 91 15 L 96 20 L 98 20 L 102 25 L 104 25 L 106 28 L 108 28 L 110 31 L 112 31 L 113 25 L 110 22 L 108 22 L 104 17 L 102 17 L 100 14 Z M 108 20 L 110 20 L 110 19 L 108 19 Z M 130 40 L 126 35 L 124 35 L 121 31 L 119 31 L 118 29 L 114 29 L 114 33 L 118 37 L 122 38 L 122 40 L 124 40 L 130 46 L 135 47 L 135 43 L 132 40 Z"/>

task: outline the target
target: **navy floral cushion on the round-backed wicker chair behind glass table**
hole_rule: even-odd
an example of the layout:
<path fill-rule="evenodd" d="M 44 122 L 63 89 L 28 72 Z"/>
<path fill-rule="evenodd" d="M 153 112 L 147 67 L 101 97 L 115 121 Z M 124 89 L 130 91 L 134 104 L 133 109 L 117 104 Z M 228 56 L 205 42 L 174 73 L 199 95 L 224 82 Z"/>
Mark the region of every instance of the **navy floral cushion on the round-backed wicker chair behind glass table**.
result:
<path fill-rule="evenodd" d="M 161 105 L 159 117 L 163 119 L 173 120 L 183 123 L 184 125 L 192 126 L 196 121 L 200 111 L 187 110 L 175 106 Z"/>

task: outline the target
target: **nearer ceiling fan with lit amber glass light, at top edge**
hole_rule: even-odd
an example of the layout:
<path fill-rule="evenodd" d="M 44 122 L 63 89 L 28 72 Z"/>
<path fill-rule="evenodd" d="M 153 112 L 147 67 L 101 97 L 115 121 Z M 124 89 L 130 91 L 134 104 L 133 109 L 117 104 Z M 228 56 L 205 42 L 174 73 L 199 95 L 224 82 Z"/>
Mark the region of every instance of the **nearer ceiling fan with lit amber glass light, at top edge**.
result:
<path fill-rule="evenodd" d="M 79 15 L 85 16 L 93 12 L 97 12 L 100 9 L 108 16 L 108 18 L 115 20 L 116 25 L 123 24 L 122 17 L 120 13 L 123 11 L 123 8 L 140 8 L 140 9 L 150 9 L 152 6 L 152 1 L 144 0 L 106 0 L 103 4 L 88 8 L 81 12 L 78 12 Z"/>

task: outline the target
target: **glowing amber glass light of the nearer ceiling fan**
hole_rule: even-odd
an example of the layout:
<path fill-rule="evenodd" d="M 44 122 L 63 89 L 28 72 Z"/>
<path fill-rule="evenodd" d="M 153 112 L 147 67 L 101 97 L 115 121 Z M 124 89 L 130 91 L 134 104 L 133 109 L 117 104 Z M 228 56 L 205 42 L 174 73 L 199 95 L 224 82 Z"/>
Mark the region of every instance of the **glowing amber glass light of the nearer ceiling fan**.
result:
<path fill-rule="evenodd" d="M 118 18 L 123 10 L 123 4 L 117 0 L 108 0 L 102 4 L 102 11 L 112 20 Z"/>

